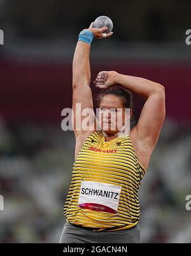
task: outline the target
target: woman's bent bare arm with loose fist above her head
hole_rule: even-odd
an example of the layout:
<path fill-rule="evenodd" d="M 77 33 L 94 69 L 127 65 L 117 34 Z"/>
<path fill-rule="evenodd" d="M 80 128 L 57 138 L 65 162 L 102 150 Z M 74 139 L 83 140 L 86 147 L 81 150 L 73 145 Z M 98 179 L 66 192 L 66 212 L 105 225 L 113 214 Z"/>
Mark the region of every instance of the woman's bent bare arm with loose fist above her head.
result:
<path fill-rule="evenodd" d="M 139 160 L 147 168 L 166 114 L 164 86 L 145 78 L 122 75 L 115 71 L 100 72 L 94 83 L 100 89 L 121 85 L 146 99 L 138 124 L 131 131 L 131 139 Z"/>

